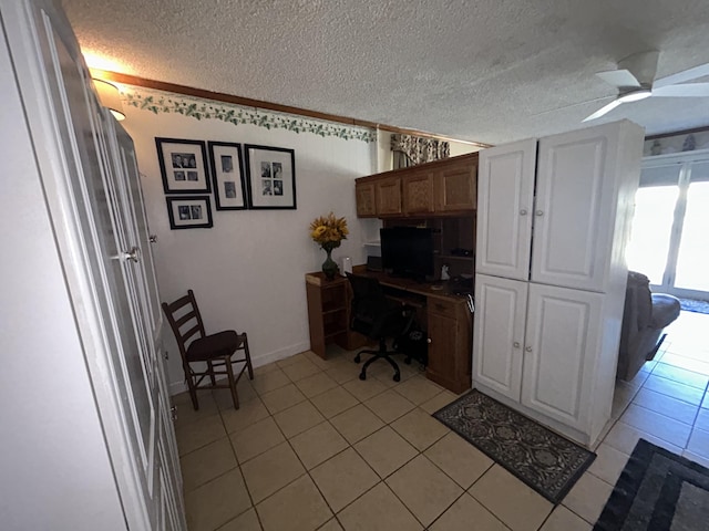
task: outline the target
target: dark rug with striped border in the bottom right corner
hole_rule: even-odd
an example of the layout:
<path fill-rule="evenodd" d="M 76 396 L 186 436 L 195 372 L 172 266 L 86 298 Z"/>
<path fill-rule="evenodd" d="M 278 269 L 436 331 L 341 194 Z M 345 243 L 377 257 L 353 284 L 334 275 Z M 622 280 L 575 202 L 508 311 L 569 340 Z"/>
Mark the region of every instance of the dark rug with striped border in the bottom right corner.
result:
<path fill-rule="evenodd" d="M 706 531 L 709 470 L 640 439 L 594 531 Z"/>

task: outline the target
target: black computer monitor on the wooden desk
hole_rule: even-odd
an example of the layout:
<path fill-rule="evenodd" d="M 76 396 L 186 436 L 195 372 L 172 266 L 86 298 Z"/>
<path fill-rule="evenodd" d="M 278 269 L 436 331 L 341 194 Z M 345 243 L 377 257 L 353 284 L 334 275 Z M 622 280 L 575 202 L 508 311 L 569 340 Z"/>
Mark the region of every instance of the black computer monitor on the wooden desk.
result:
<path fill-rule="evenodd" d="M 433 275 L 433 229 L 388 227 L 379 230 L 382 267 L 395 277 Z"/>

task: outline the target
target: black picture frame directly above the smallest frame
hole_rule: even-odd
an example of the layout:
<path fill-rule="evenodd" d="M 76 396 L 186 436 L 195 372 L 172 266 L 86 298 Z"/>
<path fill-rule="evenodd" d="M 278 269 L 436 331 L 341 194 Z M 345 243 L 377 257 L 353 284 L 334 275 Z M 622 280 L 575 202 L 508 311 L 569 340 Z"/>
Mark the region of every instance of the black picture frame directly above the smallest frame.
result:
<path fill-rule="evenodd" d="M 165 194 L 209 194 L 207 148 L 202 140 L 155 137 Z"/>

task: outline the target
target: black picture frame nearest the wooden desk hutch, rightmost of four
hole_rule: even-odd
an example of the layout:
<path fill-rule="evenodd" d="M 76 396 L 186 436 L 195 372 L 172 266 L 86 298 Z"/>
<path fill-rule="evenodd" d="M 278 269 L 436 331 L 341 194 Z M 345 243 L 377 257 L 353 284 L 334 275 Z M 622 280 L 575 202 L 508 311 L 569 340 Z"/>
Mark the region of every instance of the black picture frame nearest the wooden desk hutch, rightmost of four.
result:
<path fill-rule="evenodd" d="M 244 146 L 250 209 L 296 209 L 296 154 L 271 146 Z"/>

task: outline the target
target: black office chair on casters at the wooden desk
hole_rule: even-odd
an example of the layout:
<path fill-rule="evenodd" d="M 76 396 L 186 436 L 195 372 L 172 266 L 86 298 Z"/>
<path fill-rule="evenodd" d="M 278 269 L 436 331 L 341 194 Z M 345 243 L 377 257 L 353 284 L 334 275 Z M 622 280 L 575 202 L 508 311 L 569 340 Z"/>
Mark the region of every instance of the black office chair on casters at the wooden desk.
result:
<path fill-rule="evenodd" d="M 384 296 L 384 292 L 377 279 L 359 277 L 347 273 L 347 278 L 352 287 L 352 306 L 350 312 L 350 329 L 379 342 L 376 351 L 363 350 L 357 353 L 354 362 L 361 362 L 362 354 L 373 354 L 359 374 L 359 379 L 367 379 L 367 367 L 377 360 L 387 360 L 394 368 L 393 381 L 401 379 L 399 365 L 390 355 L 401 354 L 394 350 L 387 350 L 387 339 L 398 339 L 411 327 L 415 317 L 415 311 L 411 306 L 402 305 L 390 301 Z M 395 344 L 395 342 L 394 342 Z"/>

